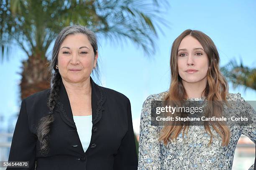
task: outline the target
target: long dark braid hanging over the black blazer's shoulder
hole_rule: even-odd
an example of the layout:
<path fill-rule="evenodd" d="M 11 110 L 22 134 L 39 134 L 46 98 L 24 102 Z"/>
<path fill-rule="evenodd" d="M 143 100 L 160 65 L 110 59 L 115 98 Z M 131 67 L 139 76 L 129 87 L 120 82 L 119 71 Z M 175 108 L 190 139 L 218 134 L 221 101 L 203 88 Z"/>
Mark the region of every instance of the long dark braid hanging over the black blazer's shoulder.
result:
<path fill-rule="evenodd" d="M 49 98 L 47 101 L 47 107 L 49 108 L 49 114 L 42 117 L 39 121 L 39 126 L 37 130 L 38 140 L 40 142 L 40 152 L 42 155 L 49 153 L 49 141 L 48 134 L 51 130 L 51 123 L 54 121 L 53 110 L 56 105 L 58 98 L 58 92 L 60 89 L 60 79 L 61 76 L 58 71 L 55 71 L 51 78 L 51 89 Z"/>

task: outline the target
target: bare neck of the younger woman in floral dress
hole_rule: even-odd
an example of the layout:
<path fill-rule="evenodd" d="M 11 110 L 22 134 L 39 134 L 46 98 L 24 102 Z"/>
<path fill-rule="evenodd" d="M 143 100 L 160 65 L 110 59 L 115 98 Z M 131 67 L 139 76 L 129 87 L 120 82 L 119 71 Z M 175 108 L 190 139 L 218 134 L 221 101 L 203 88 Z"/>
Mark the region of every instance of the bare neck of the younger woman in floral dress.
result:
<path fill-rule="evenodd" d="M 188 98 L 200 98 L 203 97 L 202 92 L 205 90 L 207 78 L 205 77 L 201 81 L 195 83 L 188 83 L 187 81 L 182 80 L 182 83 Z"/>

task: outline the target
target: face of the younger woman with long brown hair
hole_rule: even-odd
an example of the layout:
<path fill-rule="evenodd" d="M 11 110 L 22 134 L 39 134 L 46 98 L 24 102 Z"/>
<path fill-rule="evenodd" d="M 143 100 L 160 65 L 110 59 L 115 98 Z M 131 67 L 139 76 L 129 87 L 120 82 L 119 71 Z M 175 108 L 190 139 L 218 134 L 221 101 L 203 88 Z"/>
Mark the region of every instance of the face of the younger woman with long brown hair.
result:
<path fill-rule="evenodd" d="M 179 76 L 186 83 L 198 83 L 207 79 L 208 57 L 194 37 L 183 38 L 179 45 L 177 61 Z"/>

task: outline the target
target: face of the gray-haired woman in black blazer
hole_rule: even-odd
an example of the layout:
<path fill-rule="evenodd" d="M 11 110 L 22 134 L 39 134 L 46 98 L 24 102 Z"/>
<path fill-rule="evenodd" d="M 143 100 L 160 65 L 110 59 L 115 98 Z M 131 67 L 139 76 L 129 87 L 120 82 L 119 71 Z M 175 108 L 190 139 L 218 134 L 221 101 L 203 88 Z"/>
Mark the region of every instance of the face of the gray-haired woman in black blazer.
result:
<path fill-rule="evenodd" d="M 62 79 L 80 83 L 87 80 L 96 66 L 98 54 L 94 54 L 87 36 L 78 33 L 68 35 L 58 53 L 58 67 Z"/>

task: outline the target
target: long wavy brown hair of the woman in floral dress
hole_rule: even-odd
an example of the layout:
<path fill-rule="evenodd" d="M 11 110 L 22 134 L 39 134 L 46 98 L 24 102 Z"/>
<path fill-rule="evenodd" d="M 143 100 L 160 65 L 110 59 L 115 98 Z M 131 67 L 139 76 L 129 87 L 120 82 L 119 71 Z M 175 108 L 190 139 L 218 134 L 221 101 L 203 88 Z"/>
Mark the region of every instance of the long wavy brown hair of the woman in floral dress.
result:
<path fill-rule="evenodd" d="M 202 33 L 198 30 L 185 30 L 181 35 L 179 35 L 174 43 L 172 44 L 171 58 L 170 58 L 170 67 L 171 67 L 171 85 L 167 95 L 165 96 L 165 101 L 182 101 L 187 99 L 187 94 L 182 84 L 182 79 L 179 76 L 178 72 L 178 64 L 177 64 L 177 54 L 178 48 L 182 41 L 182 39 L 186 36 L 192 36 L 199 41 L 207 54 L 209 60 L 209 68 L 207 70 L 207 85 L 202 92 L 204 94 L 205 99 L 207 99 L 207 115 L 220 117 L 222 115 L 222 109 L 219 106 L 214 105 L 214 102 L 210 101 L 227 101 L 226 97 L 228 94 L 228 84 L 223 75 L 220 73 L 219 63 L 220 57 L 217 51 L 217 48 L 210 37 L 208 37 L 205 33 Z M 210 142 L 212 142 L 213 134 L 210 130 L 210 126 L 215 129 L 216 132 L 222 138 L 222 145 L 228 145 L 230 140 L 230 129 L 227 125 L 221 124 L 219 122 L 215 124 L 209 124 L 209 122 L 204 123 L 204 127 L 207 133 L 210 133 Z M 164 145 L 170 141 L 169 139 L 176 140 L 178 135 L 181 133 L 183 129 L 184 132 L 189 126 L 181 126 L 181 125 L 165 125 L 163 129 L 161 129 L 159 141 L 163 141 Z"/>

